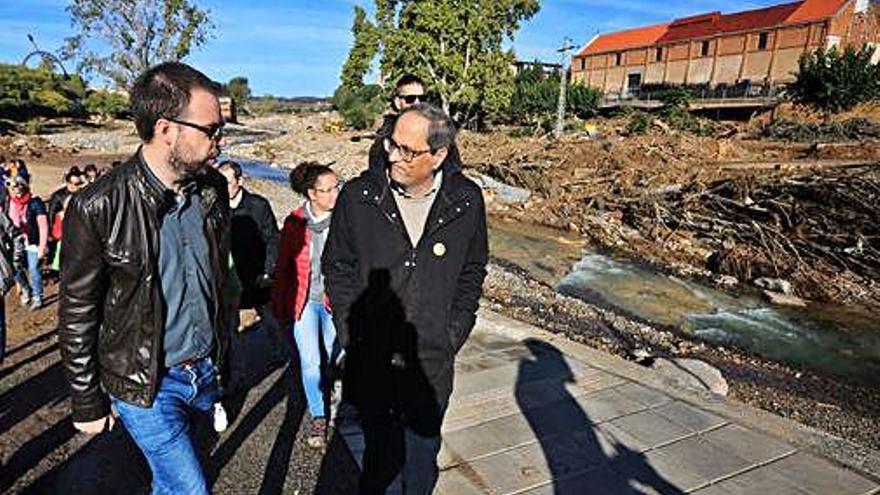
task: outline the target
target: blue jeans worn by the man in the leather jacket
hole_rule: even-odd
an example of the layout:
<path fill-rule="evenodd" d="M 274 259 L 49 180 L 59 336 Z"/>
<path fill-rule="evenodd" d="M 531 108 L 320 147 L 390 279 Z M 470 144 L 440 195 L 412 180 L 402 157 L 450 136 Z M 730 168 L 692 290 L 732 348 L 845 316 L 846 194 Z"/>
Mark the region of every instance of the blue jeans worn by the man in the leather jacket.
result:
<path fill-rule="evenodd" d="M 219 398 L 217 371 L 210 358 L 168 368 L 151 407 L 111 397 L 119 419 L 153 471 L 153 495 L 209 493 L 190 427 L 193 413 L 211 411 Z"/>

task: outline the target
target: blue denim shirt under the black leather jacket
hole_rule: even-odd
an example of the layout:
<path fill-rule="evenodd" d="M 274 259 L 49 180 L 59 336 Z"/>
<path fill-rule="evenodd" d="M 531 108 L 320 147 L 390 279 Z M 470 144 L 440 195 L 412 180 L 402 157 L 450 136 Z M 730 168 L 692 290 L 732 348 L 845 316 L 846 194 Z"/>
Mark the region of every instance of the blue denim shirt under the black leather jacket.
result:
<path fill-rule="evenodd" d="M 159 279 L 165 299 L 165 366 L 207 356 L 214 344 L 211 270 L 199 192 L 191 184 L 175 194 L 147 168 L 164 191 L 159 208 Z"/>

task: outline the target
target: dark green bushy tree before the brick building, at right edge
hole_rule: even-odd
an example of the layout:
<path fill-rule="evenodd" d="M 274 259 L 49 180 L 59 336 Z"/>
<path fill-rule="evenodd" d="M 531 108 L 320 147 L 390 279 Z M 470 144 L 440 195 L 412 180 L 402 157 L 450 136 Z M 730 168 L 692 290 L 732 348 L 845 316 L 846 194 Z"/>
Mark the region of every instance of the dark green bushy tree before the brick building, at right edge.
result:
<path fill-rule="evenodd" d="M 786 87 L 796 102 L 836 112 L 880 99 L 880 66 L 871 64 L 874 48 L 818 49 L 801 56 L 797 79 Z"/>

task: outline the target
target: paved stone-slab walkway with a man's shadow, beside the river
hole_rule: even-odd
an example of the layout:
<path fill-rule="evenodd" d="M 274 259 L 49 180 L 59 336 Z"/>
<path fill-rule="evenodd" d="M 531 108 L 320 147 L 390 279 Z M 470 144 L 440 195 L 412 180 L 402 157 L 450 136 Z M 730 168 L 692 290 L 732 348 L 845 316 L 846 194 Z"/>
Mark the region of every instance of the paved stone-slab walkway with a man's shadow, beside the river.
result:
<path fill-rule="evenodd" d="M 880 493 L 828 457 L 877 473 L 876 452 L 494 313 L 456 368 L 439 494 Z M 360 465 L 357 422 L 339 431 Z"/>

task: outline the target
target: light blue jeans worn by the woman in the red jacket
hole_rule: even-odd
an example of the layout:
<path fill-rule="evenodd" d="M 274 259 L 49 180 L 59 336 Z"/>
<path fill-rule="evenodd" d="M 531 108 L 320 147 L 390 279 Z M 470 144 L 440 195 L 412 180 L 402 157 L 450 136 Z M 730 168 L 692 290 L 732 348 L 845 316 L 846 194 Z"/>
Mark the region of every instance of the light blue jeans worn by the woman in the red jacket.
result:
<path fill-rule="evenodd" d="M 306 303 L 302 317 L 293 324 L 293 338 L 299 351 L 299 364 L 302 368 L 303 388 L 309 414 L 313 418 L 326 415 L 324 393 L 321 391 L 321 340 L 329 357 L 336 340 L 336 327 L 333 317 L 323 304 L 314 301 Z"/>

